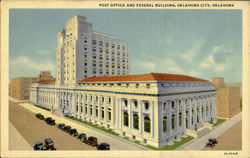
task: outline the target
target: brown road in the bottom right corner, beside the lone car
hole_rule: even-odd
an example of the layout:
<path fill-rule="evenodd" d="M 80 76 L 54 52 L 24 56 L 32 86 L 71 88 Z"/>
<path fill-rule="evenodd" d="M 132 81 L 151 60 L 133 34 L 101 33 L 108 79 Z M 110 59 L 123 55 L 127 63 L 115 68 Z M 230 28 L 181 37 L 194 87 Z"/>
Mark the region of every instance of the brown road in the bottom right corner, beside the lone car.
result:
<path fill-rule="evenodd" d="M 223 135 L 218 137 L 218 144 L 214 148 L 205 147 L 203 150 L 241 150 L 242 149 L 242 121 L 238 122 Z"/>

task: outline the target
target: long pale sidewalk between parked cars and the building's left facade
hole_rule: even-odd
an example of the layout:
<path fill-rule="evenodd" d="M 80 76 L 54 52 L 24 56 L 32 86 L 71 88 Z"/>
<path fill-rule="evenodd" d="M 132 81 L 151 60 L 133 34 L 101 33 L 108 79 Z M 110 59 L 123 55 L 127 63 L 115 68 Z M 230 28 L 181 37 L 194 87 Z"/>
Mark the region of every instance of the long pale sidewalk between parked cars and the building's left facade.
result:
<path fill-rule="evenodd" d="M 87 125 L 81 124 L 74 120 L 70 120 L 68 118 L 59 117 L 53 115 L 50 111 L 43 110 L 39 107 L 33 106 L 28 103 L 21 103 L 19 104 L 23 108 L 27 109 L 28 111 L 34 113 L 41 113 L 44 117 L 52 117 L 55 119 L 57 123 L 65 123 L 66 125 L 71 126 L 72 128 L 76 128 L 78 133 L 85 133 L 87 136 L 96 136 L 98 138 L 98 142 L 106 142 L 109 143 L 112 147 L 112 150 L 148 150 L 147 148 L 140 146 L 135 143 L 128 142 L 122 138 L 115 137 L 93 127 L 89 127 Z"/>

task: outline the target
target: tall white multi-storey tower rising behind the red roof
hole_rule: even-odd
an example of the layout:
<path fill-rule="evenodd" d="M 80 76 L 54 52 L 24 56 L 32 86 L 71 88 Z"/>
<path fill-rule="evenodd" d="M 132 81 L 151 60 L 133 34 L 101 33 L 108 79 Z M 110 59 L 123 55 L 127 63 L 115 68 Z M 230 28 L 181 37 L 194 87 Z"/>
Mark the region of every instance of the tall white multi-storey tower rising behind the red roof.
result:
<path fill-rule="evenodd" d="M 128 75 L 129 44 L 94 32 L 84 16 L 74 16 L 58 32 L 57 84 L 74 85 L 87 77 Z"/>

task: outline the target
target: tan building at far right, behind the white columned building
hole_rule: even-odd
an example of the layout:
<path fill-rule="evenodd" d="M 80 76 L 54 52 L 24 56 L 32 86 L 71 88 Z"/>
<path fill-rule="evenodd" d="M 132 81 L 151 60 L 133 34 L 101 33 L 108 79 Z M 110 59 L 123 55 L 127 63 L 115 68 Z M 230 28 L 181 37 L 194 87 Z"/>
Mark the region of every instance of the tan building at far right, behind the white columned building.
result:
<path fill-rule="evenodd" d="M 226 86 L 223 78 L 213 78 L 212 83 L 217 87 L 216 115 L 231 118 L 240 112 L 240 87 Z"/>

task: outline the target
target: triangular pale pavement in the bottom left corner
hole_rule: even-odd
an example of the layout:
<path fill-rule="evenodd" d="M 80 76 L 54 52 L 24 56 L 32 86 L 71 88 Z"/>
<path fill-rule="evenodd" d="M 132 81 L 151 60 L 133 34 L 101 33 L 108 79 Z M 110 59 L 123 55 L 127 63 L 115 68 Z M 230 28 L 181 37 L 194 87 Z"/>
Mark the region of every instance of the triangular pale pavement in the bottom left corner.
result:
<path fill-rule="evenodd" d="M 9 150 L 33 150 L 11 122 L 9 122 Z"/>

